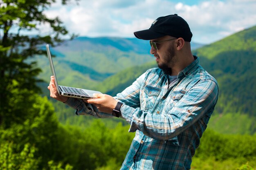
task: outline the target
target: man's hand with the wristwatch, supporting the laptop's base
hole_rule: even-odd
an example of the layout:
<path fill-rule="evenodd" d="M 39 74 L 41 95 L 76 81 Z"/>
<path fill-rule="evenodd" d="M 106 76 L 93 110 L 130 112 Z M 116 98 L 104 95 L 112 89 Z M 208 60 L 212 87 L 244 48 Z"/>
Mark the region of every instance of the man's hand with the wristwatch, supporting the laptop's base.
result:
<path fill-rule="evenodd" d="M 101 112 L 112 113 L 117 105 L 117 101 L 110 95 L 94 94 L 96 99 L 83 99 L 86 103 L 94 104 Z"/>

